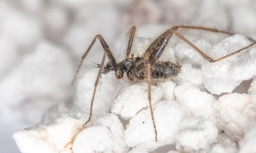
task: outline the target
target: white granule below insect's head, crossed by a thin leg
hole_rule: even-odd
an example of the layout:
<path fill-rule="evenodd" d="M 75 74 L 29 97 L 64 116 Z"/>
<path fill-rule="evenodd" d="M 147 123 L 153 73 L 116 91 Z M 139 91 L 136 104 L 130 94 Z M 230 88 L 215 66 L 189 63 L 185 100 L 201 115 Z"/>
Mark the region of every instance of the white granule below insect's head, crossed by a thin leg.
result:
<path fill-rule="evenodd" d="M 87 113 L 90 112 L 90 104 L 98 71 L 99 70 L 96 68 L 84 69 L 83 76 L 78 78 L 74 100 L 75 108 L 81 109 Z M 113 105 L 116 84 L 116 78 L 112 73 L 102 75 L 102 78 L 99 79 L 97 92 L 94 98 L 93 115 L 102 112 L 110 112 L 110 108 Z"/>

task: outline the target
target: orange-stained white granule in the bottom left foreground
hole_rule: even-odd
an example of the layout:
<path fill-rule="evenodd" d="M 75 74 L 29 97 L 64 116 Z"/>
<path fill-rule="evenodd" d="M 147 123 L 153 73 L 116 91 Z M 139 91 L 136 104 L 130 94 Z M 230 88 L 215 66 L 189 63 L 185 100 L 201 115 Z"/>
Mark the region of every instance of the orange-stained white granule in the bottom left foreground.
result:
<path fill-rule="evenodd" d="M 83 129 L 87 118 L 84 112 L 73 110 L 62 113 L 48 124 L 38 123 L 18 131 L 13 138 L 24 153 L 71 153 L 76 134 Z"/>

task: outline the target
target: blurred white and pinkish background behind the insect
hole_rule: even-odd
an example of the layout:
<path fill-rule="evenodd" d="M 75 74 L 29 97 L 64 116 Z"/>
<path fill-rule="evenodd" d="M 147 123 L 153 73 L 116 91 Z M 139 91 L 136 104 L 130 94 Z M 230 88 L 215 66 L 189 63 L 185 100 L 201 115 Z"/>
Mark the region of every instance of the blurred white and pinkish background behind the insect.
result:
<path fill-rule="evenodd" d="M 256 38 L 256 1 L 0 0 L 0 152 L 19 153 L 12 133 L 72 108 L 71 81 L 94 35 L 121 60 L 130 25 L 178 24 Z M 93 50 L 83 67 L 100 62 L 101 46 Z"/>

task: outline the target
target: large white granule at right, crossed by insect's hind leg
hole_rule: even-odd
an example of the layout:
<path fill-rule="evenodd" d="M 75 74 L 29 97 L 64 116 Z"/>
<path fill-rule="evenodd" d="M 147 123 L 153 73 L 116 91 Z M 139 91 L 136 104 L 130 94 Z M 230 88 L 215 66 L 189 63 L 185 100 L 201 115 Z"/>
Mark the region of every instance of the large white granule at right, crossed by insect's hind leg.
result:
<path fill-rule="evenodd" d="M 219 59 L 249 44 L 244 35 L 236 34 L 214 45 L 208 55 L 214 60 Z M 250 57 L 250 51 L 245 51 L 216 63 L 203 60 L 204 83 L 208 91 L 214 94 L 232 92 L 243 80 L 256 75 L 256 58 Z"/>

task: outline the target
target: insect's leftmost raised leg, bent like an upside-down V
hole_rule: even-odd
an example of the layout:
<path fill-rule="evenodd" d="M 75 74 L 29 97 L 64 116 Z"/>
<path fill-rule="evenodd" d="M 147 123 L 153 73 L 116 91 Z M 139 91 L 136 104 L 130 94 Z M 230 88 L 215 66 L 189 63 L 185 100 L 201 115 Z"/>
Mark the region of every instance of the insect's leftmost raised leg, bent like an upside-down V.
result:
<path fill-rule="evenodd" d="M 102 37 L 101 35 L 96 35 L 96 36 L 94 37 L 93 41 L 91 42 L 90 46 L 88 47 L 88 49 L 86 50 L 86 52 L 84 53 L 84 55 L 82 56 L 82 58 L 81 58 L 81 60 L 80 60 L 80 63 L 79 63 L 78 69 L 76 70 L 76 73 L 75 73 L 75 76 L 74 76 L 74 78 L 73 78 L 72 84 L 74 84 L 74 82 L 75 82 L 75 80 L 76 80 L 76 78 L 77 78 L 77 75 L 78 75 L 78 73 L 79 73 L 79 71 L 80 71 L 80 68 L 81 68 L 81 66 L 82 66 L 82 64 L 83 64 L 84 58 L 85 58 L 85 57 L 87 56 L 87 54 L 90 52 L 90 50 L 91 50 L 91 48 L 93 47 L 93 45 L 94 45 L 94 43 L 95 43 L 95 41 L 96 41 L 97 38 L 99 39 L 99 41 L 100 41 L 100 43 L 101 43 L 102 48 L 104 49 L 104 51 L 107 52 L 109 61 L 110 61 L 111 65 L 112 65 L 112 68 L 114 69 L 114 72 L 115 72 L 115 74 L 116 74 L 116 77 L 117 77 L 117 78 L 120 77 L 120 76 L 118 76 L 118 74 L 117 74 L 117 64 L 116 64 L 116 60 L 115 60 L 114 56 L 112 55 L 112 53 L 111 53 L 111 51 L 110 51 L 110 48 L 108 47 L 106 41 L 103 39 L 103 37 Z"/>

